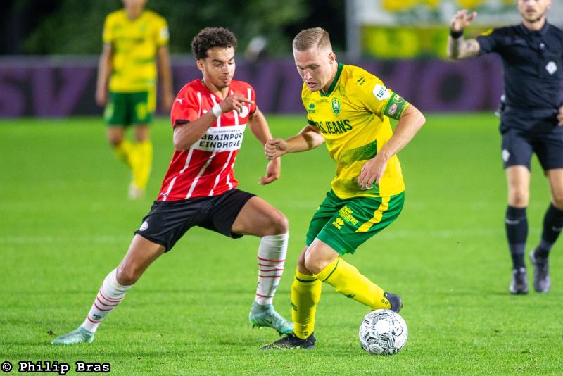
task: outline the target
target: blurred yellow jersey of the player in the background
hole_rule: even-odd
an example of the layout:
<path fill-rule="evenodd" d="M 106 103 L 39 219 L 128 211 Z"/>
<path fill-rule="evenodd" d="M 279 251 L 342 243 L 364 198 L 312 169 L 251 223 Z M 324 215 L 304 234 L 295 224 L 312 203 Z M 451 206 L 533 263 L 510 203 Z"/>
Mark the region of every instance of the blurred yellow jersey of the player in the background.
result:
<path fill-rule="evenodd" d="M 168 43 L 166 20 L 144 11 L 130 20 L 125 10 L 106 17 L 103 43 L 113 46 L 111 92 L 153 91 L 156 87 L 156 51 Z"/>

